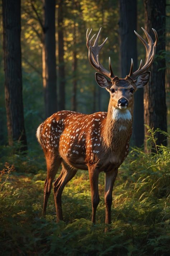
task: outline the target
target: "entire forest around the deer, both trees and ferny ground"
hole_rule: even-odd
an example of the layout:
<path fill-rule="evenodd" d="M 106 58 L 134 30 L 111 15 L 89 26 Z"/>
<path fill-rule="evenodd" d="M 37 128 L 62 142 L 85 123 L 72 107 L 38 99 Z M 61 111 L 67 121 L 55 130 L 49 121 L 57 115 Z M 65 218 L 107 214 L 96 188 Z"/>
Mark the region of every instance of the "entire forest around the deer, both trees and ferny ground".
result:
<path fill-rule="evenodd" d="M 1 0 L 0 8 L 1 255 L 170 255 L 169 1 Z M 158 43 L 153 63 L 148 60 L 150 80 L 134 94 L 129 153 L 114 183 L 111 222 L 104 224 L 104 171 L 91 221 L 85 170 L 66 184 L 64 220 L 56 222 L 53 191 L 42 216 L 47 167 L 36 131 L 57 111 L 108 111 L 109 93 L 89 62 L 91 28 L 90 38 L 101 28 L 99 45 L 108 37 L 100 63 L 109 70 L 110 57 L 119 78 L 131 73 L 131 58 L 134 72 L 141 59 L 144 65 L 154 56 L 146 54 L 151 46 L 143 28 L 155 42 L 154 28 Z M 55 178 L 60 173 L 61 167 Z"/>

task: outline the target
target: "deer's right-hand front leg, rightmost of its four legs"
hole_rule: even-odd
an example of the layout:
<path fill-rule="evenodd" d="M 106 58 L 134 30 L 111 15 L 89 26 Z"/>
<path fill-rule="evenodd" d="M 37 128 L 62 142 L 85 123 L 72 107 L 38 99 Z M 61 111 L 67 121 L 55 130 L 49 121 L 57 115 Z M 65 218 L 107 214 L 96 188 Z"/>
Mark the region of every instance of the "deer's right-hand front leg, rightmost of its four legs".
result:
<path fill-rule="evenodd" d="M 111 223 L 112 191 L 118 168 L 105 173 L 104 201 L 106 206 L 105 224 Z"/>

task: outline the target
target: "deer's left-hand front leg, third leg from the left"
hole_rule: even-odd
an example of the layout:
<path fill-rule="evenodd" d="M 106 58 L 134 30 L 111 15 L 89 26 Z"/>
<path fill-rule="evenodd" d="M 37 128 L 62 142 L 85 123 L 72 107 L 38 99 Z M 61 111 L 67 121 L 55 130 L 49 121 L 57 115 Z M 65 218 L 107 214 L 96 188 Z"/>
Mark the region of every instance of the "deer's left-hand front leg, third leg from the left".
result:
<path fill-rule="evenodd" d="M 92 205 L 92 219 L 91 221 L 95 224 L 96 222 L 96 209 L 99 204 L 99 170 L 93 167 L 89 167 L 89 179 L 91 189 L 91 205 Z"/>

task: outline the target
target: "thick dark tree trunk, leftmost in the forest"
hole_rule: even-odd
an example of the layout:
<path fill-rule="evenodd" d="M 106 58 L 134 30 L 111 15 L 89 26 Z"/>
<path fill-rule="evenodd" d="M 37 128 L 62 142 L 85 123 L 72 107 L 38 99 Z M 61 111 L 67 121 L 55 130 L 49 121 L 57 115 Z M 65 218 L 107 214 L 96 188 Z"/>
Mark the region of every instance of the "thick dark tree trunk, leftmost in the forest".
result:
<path fill-rule="evenodd" d="M 24 127 L 21 67 L 20 0 L 3 0 L 3 48 L 8 142 L 21 141 L 27 149 Z"/>

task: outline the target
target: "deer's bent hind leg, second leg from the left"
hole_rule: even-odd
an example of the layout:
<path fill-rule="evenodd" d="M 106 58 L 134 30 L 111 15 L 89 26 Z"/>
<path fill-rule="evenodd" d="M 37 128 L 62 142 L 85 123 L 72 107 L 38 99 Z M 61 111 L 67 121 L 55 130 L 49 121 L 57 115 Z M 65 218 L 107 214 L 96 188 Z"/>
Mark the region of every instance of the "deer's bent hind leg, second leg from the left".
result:
<path fill-rule="evenodd" d="M 57 222 L 63 220 L 61 195 L 65 185 L 75 176 L 77 169 L 71 168 L 66 163 L 62 163 L 62 171 L 54 182 L 54 200 L 56 206 Z"/>

